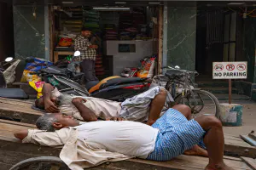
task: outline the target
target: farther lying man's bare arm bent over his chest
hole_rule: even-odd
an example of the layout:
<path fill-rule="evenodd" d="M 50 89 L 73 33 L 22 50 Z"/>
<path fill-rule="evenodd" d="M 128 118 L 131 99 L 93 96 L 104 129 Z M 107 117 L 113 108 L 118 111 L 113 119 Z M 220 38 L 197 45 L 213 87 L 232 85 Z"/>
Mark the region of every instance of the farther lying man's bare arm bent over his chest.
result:
<path fill-rule="evenodd" d="M 73 105 L 79 110 L 80 115 L 83 117 L 85 122 L 94 122 L 97 121 L 97 117 L 93 111 L 90 111 L 84 104 L 83 101 L 86 102 L 86 99 L 83 98 L 74 98 L 72 100 Z"/>

